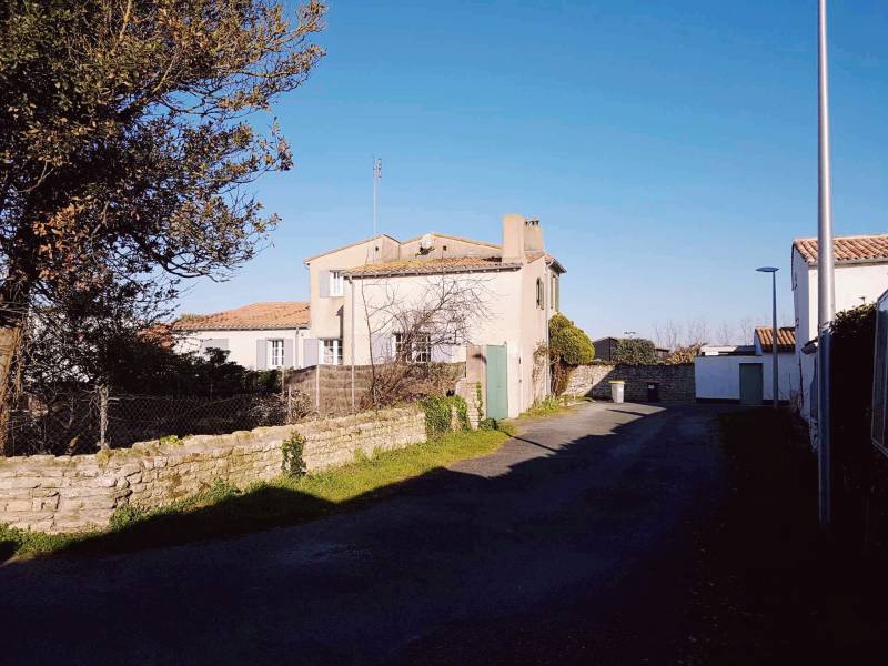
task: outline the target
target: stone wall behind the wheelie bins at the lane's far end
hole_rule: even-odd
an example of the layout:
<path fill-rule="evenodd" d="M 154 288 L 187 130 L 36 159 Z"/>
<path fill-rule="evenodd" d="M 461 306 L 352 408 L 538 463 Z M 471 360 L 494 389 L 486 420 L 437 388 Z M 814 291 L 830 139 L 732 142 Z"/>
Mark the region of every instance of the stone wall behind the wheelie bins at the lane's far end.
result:
<path fill-rule="evenodd" d="M 659 400 L 666 404 L 688 404 L 696 401 L 694 364 L 680 365 L 581 365 L 571 374 L 565 393 L 597 400 L 610 400 L 609 381 L 626 382 L 625 400 L 647 402 L 647 384 L 659 384 Z"/>

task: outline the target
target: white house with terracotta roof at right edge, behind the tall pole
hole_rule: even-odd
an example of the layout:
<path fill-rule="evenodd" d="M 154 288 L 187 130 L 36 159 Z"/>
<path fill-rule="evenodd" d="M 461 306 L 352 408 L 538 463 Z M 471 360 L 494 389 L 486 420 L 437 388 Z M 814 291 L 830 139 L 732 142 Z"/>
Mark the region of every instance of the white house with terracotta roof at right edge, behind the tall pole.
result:
<path fill-rule="evenodd" d="M 888 287 L 888 234 L 837 236 L 833 249 L 836 312 L 875 303 Z M 793 405 L 816 442 L 817 239 L 793 242 L 791 266 L 799 367 Z"/>

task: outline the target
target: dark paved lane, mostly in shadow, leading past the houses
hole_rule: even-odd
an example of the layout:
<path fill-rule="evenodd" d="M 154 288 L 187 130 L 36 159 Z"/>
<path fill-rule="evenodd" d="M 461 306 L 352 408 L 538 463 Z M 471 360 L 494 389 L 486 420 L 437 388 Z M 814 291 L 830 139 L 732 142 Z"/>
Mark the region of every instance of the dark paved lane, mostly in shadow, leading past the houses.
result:
<path fill-rule="evenodd" d="M 6 566 L 0 662 L 670 663 L 716 414 L 586 404 L 353 513 Z"/>

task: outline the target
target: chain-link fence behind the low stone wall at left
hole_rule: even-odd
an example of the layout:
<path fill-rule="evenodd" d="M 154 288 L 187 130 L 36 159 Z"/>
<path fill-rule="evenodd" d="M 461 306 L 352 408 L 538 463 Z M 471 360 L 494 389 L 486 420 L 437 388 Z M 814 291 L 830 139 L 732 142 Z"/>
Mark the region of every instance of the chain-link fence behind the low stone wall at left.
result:
<path fill-rule="evenodd" d="M 299 391 L 224 397 L 115 394 L 104 387 L 71 390 L 51 398 L 23 396 L 9 415 L 6 454 L 74 455 L 135 442 L 216 435 L 286 425 L 311 412 Z"/>

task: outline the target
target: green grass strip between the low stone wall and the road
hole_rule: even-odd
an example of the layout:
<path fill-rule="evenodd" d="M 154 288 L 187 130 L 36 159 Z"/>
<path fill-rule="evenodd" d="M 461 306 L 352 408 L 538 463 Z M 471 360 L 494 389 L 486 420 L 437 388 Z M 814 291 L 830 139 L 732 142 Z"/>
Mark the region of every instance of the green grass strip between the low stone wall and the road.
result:
<path fill-rule="evenodd" d="M 282 476 L 242 491 L 216 482 L 206 491 L 163 508 L 120 511 L 103 531 L 49 535 L 0 525 L 0 562 L 62 551 L 130 552 L 293 525 L 361 506 L 395 492 L 401 482 L 492 453 L 508 436 L 503 431 L 448 433 L 329 472 L 295 478 Z"/>

